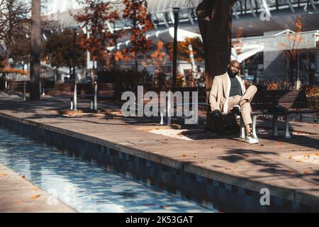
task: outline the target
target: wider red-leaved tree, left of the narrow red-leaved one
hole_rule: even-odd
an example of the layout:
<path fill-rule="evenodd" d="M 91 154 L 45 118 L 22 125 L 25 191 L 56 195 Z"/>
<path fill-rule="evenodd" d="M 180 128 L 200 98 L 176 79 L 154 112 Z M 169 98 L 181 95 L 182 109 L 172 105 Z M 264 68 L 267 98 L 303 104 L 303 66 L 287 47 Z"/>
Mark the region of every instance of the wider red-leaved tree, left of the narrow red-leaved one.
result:
<path fill-rule="evenodd" d="M 82 50 L 91 52 L 94 62 L 104 62 L 109 58 L 107 48 L 114 45 L 116 39 L 123 35 L 108 28 L 108 23 L 120 19 L 116 6 L 103 0 L 79 0 L 79 4 L 84 6 L 82 12 L 70 14 L 78 23 L 82 23 L 82 28 L 86 28 L 89 33 L 89 36 L 79 36 L 79 46 Z"/>

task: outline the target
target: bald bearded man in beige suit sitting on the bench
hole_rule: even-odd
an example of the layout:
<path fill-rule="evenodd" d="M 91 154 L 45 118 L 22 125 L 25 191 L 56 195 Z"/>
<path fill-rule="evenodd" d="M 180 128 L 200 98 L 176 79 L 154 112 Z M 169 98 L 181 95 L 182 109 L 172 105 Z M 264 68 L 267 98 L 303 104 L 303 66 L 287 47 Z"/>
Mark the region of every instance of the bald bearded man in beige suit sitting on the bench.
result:
<path fill-rule="evenodd" d="M 213 79 L 213 85 L 209 94 L 211 114 L 220 117 L 221 114 L 241 114 L 245 123 L 246 137 L 245 142 L 254 144 L 259 143 L 250 129 L 252 108 L 250 101 L 257 92 L 257 87 L 251 85 L 247 90 L 244 81 L 238 76 L 240 63 L 232 61 L 228 64 L 228 72 Z"/>

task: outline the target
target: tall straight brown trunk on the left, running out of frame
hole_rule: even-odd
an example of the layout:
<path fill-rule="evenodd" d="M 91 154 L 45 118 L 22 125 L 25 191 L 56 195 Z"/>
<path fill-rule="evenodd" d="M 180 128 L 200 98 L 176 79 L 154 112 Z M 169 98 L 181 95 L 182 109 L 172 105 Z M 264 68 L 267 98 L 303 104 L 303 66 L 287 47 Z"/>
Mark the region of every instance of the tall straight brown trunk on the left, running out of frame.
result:
<path fill-rule="evenodd" d="M 32 0 L 30 100 L 40 100 L 41 24 L 40 0 Z"/>

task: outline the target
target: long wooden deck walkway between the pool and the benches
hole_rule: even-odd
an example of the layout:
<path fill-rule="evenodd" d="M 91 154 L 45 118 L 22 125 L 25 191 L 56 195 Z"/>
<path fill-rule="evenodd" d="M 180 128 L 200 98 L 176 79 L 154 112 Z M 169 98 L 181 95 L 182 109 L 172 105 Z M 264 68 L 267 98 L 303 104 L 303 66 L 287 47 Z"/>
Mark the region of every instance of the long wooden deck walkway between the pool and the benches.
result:
<path fill-rule="evenodd" d="M 313 135 L 294 135 L 291 140 L 261 136 L 257 145 L 248 145 L 239 138 L 186 141 L 138 129 L 150 125 L 165 127 L 157 126 L 156 122 L 132 123 L 132 120 L 111 116 L 60 116 L 57 110 L 68 107 L 62 99 L 23 103 L 4 94 L 1 96 L 5 96 L 0 101 L 1 116 L 19 118 L 26 123 L 40 123 L 41 127 L 96 143 L 105 141 L 114 146 L 121 145 L 123 152 L 164 164 L 183 163 L 186 171 L 252 190 L 257 185 L 265 185 L 281 196 L 286 190 L 293 190 L 308 196 L 308 199 L 318 201 L 319 198 L 319 165 L 291 158 L 296 155 L 318 155 L 318 125 L 308 124 Z M 84 105 L 80 103 L 79 108 Z M 306 127 L 305 123 L 303 127 Z"/>

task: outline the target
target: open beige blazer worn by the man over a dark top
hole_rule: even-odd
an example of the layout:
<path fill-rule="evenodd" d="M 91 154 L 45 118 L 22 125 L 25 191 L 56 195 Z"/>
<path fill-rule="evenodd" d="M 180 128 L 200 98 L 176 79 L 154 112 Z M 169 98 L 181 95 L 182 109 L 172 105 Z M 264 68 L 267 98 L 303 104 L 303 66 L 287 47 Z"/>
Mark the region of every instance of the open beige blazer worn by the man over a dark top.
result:
<path fill-rule="evenodd" d="M 239 76 L 236 76 L 242 86 L 242 94 L 245 94 L 246 87 L 244 80 Z M 213 85 L 209 94 L 209 104 L 211 105 L 211 111 L 218 109 L 223 114 L 228 113 L 228 98 L 230 93 L 230 79 L 228 72 L 220 76 L 216 76 L 213 79 Z"/>

